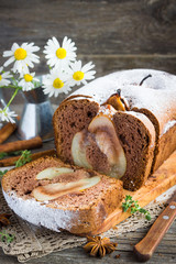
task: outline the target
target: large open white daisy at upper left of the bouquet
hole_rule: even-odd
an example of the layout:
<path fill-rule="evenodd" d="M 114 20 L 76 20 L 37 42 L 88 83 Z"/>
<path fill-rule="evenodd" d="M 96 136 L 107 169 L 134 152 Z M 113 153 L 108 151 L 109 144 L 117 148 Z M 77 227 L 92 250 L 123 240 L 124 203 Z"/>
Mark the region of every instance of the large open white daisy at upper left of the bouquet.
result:
<path fill-rule="evenodd" d="M 3 57 L 10 57 L 6 63 L 4 67 L 14 63 L 13 73 L 26 73 L 28 67 L 33 68 L 34 63 L 40 63 L 38 56 L 34 54 L 40 50 L 38 46 L 34 46 L 34 43 L 23 43 L 21 46 L 13 43 L 11 51 L 3 52 Z"/>

